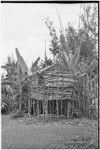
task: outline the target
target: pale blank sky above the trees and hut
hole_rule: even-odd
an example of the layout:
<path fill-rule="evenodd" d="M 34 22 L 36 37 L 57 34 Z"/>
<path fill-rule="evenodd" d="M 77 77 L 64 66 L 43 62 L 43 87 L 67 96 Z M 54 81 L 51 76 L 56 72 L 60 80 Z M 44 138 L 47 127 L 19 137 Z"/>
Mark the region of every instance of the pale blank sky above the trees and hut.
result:
<path fill-rule="evenodd" d="M 16 60 L 15 48 L 19 49 L 30 68 L 37 57 L 44 58 L 45 41 L 48 58 L 50 36 L 43 19 L 49 17 L 59 32 L 60 25 L 56 9 L 62 19 L 63 27 L 70 22 L 79 25 L 80 4 L 2 4 L 0 9 L 0 63 L 4 65 L 8 56 Z"/>

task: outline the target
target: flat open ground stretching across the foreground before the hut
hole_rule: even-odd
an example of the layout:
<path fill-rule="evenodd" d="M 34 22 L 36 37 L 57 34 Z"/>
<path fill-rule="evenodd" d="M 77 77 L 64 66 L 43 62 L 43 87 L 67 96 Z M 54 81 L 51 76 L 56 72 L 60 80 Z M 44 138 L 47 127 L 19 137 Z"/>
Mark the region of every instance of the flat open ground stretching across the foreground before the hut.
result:
<path fill-rule="evenodd" d="M 2 149 L 98 149 L 97 120 L 43 123 L 33 117 L 2 116 Z"/>

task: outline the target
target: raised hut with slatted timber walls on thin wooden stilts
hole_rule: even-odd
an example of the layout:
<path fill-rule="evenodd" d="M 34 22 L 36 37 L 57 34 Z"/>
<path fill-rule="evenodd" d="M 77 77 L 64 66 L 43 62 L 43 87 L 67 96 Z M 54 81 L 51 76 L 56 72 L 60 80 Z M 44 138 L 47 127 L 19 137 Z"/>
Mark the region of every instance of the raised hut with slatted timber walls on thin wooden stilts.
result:
<path fill-rule="evenodd" d="M 63 65 L 55 63 L 30 77 L 29 113 L 71 117 L 75 77 Z"/>

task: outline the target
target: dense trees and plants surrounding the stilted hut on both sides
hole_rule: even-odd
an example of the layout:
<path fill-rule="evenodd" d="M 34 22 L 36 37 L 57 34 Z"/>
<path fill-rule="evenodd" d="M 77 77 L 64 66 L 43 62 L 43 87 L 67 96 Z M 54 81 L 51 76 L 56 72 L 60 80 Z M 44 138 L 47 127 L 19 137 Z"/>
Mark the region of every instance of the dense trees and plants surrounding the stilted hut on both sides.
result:
<path fill-rule="evenodd" d="M 86 84 L 81 78 L 75 84 L 79 89 L 80 100 L 89 101 L 88 109 L 94 107 L 95 117 L 97 117 L 98 108 L 98 8 L 94 4 L 83 4 L 80 14 L 79 28 L 76 30 L 69 23 L 63 27 L 58 13 L 61 30 L 57 35 L 56 27 L 49 17 L 45 18 L 45 24 L 49 29 L 51 37 L 50 52 L 53 59 L 48 59 L 45 53 L 45 60 L 38 65 L 38 58 L 32 63 L 28 70 L 23 58 L 16 62 L 8 57 L 7 63 L 2 66 L 7 73 L 1 76 L 1 104 L 7 112 L 16 111 L 28 112 L 28 83 L 29 77 L 36 70 L 45 68 L 58 61 L 69 68 L 72 74 L 77 77 L 78 73 L 87 75 Z M 20 61 L 22 59 L 22 61 Z M 93 93 L 94 92 L 94 93 Z M 94 95 L 91 101 L 91 95 Z M 84 97 L 85 95 L 85 97 Z M 84 98 L 82 98 L 84 97 Z M 91 102 L 90 102 L 91 101 Z M 84 103 L 84 102 L 83 102 Z M 85 107 L 85 106 L 84 106 Z"/>

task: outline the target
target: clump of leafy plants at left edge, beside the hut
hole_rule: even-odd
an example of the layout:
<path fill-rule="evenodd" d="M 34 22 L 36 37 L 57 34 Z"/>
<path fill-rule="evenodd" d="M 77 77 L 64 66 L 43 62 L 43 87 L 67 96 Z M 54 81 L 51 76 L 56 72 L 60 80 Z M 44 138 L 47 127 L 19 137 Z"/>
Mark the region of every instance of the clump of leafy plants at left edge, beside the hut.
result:
<path fill-rule="evenodd" d="M 11 110 L 18 109 L 20 96 L 22 98 L 22 95 L 25 93 L 22 89 L 22 95 L 20 95 L 20 86 L 25 86 L 23 84 L 25 76 L 23 76 L 22 70 L 14 58 L 8 57 L 7 63 L 2 66 L 2 68 L 7 71 L 6 76 L 1 82 L 2 103 L 6 103 Z M 25 103 L 25 101 L 23 103 Z"/>

